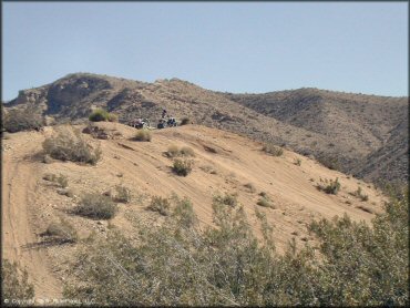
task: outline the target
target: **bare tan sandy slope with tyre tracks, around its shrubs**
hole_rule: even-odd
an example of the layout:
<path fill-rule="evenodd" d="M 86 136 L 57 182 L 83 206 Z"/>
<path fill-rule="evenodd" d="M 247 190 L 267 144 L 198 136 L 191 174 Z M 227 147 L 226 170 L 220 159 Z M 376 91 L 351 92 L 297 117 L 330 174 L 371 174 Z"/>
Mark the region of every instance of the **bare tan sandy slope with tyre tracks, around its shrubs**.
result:
<path fill-rule="evenodd" d="M 170 197 L 172 193 L 186 196 L 193 202 L 201 223 L 209 225 L 213 196 L 236 194 L 252 224 L 256 222 L 255 207 L 266 213 L 280 250 L 293 237 L 298 245 L 311 242 L 306 226 L 315 218 L 347 213 L 355 220 L 369 222 L 373 213 L 382 209 L 383 196 L 372 185 L 287 150 L 281 156 L 269 156 L 260 151 L 259 142 L 234 133 L 185 125 L 156 130 L 151 142 L 135 142 L 130 138 L 135 134 L 130 126 L 95 125 L 113 137 L 95 140 L 83 134 L 89 142 L 101 144 L 102 160 L 95 166 L 60 161 L 43 163 L 41 144 L 55 130 L 52 126 L 43 132 L 10 134 L 3 140 L 3 254 L 28 268 L 39 297 L 61 295 L 62 283 L 69 279 L 69 261 L 81 245 L 86 245 L 86 242 L 41 245 L 41 233 L 59 218 L 72 224 L 82 239 L 93 233 L 104 236 L 113 226 L 132 236 L 133 217 L 143 219 L 146 227 L 161 223 L 161 215 L 146 211 L 152 196 Z M 186 177 L 171 171 L 172 160 L 164 155 L 171 145 L 188 146 L 195 153 L 193 171 Z M 296 164 L 297 160 L 300 165 Z M 74 195 L 59 194 L 53 183 L 43 179 L 44 174 L 66 176 Z M 337 195 L 317 189 L 317 184 L 337 177 L 341 183 Z M 133 197 L 131 203 L 120 204 L 120 213 L 113 219 L 93 220 L 69 214 L 82 194 L 103 194 L 115 185 L 130 188 Z M 350 194 L 358 187 L 368 195 L 368 201 Z M 271 198 L 273 208 L 256 205 L 262 192 Z"/>

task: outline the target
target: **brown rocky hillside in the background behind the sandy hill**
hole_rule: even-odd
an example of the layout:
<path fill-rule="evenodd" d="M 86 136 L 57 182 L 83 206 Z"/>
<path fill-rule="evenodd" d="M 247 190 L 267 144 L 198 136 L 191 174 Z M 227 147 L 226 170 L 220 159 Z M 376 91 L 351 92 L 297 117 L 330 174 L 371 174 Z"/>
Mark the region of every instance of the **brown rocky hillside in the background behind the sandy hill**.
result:
<path fill-rule="evenodd" d="M 178 79 L 145 83 L 75 73 L 21 91 L 7 109 L 28 105 L 58 123 L 79 123 L 104 107 L 122 123 L 143 116 L 155 124 L 166 109 L 177 119 L 270 141 L 370 181 L 408 177 L 408 97 L 317 89 L 232 94 Z"/>

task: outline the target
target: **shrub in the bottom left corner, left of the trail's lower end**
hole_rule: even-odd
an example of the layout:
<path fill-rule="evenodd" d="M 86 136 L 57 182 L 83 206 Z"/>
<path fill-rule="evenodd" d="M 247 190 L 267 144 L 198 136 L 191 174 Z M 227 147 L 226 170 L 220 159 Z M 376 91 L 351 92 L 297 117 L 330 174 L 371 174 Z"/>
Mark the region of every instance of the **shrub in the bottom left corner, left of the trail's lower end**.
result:
<path fill-rule="evenodd" d="M 4 306 L 18 306 L 11 300 L 30 300 L 34 297 L 34 286 L 29 283 L 27 270 L 21 270 L 17 263 L 2 259 L 1 263 L 1 299 Z M 9 305 L 6 299 L 9 300 Z M 28 306 L 28 305 L 24 305 Z"/>

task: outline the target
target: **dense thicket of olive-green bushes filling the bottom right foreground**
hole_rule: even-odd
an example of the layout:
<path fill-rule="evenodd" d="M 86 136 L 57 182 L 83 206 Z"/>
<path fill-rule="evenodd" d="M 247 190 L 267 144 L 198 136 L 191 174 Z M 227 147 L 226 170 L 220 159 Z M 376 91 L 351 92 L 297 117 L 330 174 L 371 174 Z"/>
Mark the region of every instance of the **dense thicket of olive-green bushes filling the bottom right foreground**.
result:
<path fill-rule="evenodd" d="M 369 226 L 348 216 L 309 226 L 317 247 L 275 249 L 256 209 L 258 240 L 243 207 L 213 204 L 215 227 L 191 223 L 178 203 L 160 226 L 134 224 L 137 240 L 110 229 L 72 266 L 65 298 L 98 306 L 408 306 L 409 199 L 392 198 Z"/>

